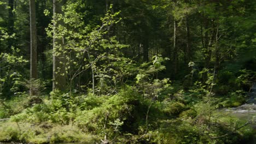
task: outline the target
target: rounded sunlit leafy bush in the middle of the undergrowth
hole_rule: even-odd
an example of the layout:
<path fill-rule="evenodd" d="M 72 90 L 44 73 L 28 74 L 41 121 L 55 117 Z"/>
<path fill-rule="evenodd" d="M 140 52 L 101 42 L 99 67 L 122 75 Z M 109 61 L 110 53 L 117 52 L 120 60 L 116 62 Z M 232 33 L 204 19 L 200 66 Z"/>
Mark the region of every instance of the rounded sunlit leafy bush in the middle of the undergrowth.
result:
<path fill-rule="evenodd" d="M 138 99 L 137 94 L 130 91 L 121 92 L 110 97 L 103 97 L 103 99 L 105 99 L 104 103 L 98 107 L 78 111 L 78 117 L 74 122 L 85 131 L 91 131 L 101 136 L 108 134 L 113 137 L 119 133 L 124 121 L 133 115 L 134 104 L 137 104 Z"/>

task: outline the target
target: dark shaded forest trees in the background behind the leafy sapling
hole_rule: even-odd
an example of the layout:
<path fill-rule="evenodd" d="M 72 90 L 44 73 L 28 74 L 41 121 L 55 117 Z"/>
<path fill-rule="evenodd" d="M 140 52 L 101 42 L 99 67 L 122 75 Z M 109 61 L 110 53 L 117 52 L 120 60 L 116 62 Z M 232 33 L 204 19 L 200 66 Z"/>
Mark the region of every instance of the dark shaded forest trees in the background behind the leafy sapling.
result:
<path fill-rule="evenodd" d="M 255 63 L 255 14 L 252 11 L 255 2 L 113 0 L 77 3 L 80 5 L 73 9 L 75 8 L 77 14 L 82 16 L 83 25 L 91 28 L 100 25 L 98 18 L 106 14 L 110 4 L 113 4 L 112 13 L 120 10 L 119 16 L 122 20 L 117 25 L 109 27 L 106 37 L 115 35 L 120 44 L 129 45 L 122 52 L 125 57 L 133 58 L 138 63 L 151 61 L 154 55 L 168 57 L 170 60 L 165 63 L 166 70 L 161 72 L 160 77 L 184 81 L 183 77 L 191 71 L 188 67 L 190 61 L 195 62 L 199 71 L 205 68 L 205 73 L 200 78 L 203 82 L 207 81 L 208 73 L 214 73 L 214 79 L 217 79 L 221 71 L 231 70 L 231 73 L 237 73 L 245 68 L 254 69 L 252 65 Z M 11 52 L 11 47 L 15 47 L 20 49 L 19 55 L 30 59 L 28 3 L 3 1 L 1 7 L 1 29 L 9 35 L 6 41 L 1 41 L 2 52 Z M 65 82 L 68 80 L 67 71 L 64 66 L 59 65 L 60 62 L 65 65 L 65 59 L 61 59 L 65 56 L 63 53 L 57 54 L 60 56 L 53 55 L 54 59 L 51 60 L 50 54 L 52 46 L 61 49 L 65 38 L 61 38 L 61 35 L 54 36 L 55 41 L 59 39 L 59 42 L 51 44 L 51 38 L 47 37 L 45 31 L 54 13 L 63 16 L 63 13 L 60 13 L 61 5 L 58 3 L 54 6 L 50 1 L 36 1 L 36 9 L 38 78 L 65 83 L 59 87 L 65 91 L 62 86 L 68 85 Z M 62 20 L 54 21 L 54 27 L 63 25 L 57 24 Z M 239 67 L 234 68 L 235 64 Z M 59 74 L 51 73 L 57 68 L 60 70 Z M 23 76 L 28 77 L 26 73 Z M 61 81 L 57 82 L 59 80 L 56 77 L 61 77 Z M 85 79 L 89 80 L 88 77 Z M 51 87 L 49 82 L 47 85 Z M 53 87 L 55 88 L 55 85 Z"/>

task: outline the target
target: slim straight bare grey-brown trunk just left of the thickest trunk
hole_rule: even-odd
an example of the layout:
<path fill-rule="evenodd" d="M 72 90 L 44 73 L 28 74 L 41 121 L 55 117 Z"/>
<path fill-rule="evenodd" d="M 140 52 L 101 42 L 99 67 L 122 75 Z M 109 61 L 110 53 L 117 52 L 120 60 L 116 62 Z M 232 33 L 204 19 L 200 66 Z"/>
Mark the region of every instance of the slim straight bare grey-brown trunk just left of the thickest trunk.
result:
<path fill-rule="evenodd" d="M 37 27 L 36 27 L 36 3 L 30 0 L 30 79 L 37 79 Z M 30 95 L 35 95 L 33 86 L 30 87 Z"/>

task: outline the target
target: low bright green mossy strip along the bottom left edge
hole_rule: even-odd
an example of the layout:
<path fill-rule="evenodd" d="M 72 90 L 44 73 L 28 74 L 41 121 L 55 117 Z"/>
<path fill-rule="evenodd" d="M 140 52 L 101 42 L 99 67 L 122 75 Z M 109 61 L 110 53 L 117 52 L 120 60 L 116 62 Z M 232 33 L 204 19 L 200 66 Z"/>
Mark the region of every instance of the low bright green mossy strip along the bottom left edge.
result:
<path fill-rule="evenodd" d="M 97 136 L 84 133 L 74 125 L 47 125 L 51 125 L 51 127 L 30 123 L 19 123 L 19 125 L 14 122 L 1 123 L 0 141 L 22 141 L 37 144 L 55 142 L 95 143 L 100 141 Z"/>

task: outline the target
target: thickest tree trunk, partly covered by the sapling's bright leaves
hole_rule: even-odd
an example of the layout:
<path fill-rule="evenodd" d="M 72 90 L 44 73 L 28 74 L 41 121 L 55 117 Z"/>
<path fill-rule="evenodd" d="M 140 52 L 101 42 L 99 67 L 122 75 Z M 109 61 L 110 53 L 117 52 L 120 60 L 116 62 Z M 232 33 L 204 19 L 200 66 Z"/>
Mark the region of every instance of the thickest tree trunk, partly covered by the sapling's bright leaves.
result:
<path fill-rule="evenodd" d="M 63 20 L 57 20 L 57 14 L 62 14 L 61 7 L 63 0 L 53 1 L 53 13 L 54 13 L 54 26 L 53 26 L 53 90 L 59 89 L 60 91 L 66 90 L 66 61 L 65 54 L 63 52 L 64 38 L 60 39 L 57 35 L 57 27 L 63 26 Z M 57 38 L 58 36 L 58 38 Z"/>

